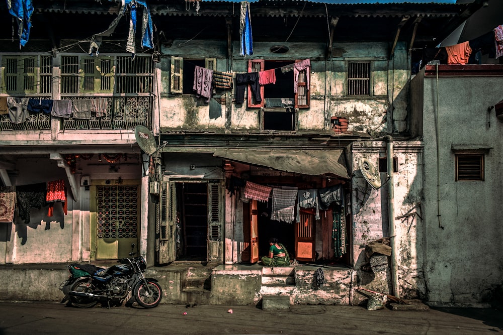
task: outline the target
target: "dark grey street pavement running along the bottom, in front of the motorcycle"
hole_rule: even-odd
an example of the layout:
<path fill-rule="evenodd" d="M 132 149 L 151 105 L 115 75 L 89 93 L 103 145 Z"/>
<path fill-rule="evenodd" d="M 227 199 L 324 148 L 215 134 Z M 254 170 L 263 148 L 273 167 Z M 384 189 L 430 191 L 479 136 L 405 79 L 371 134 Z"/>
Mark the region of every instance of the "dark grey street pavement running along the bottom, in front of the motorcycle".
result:
<path fill-rule="evenodd" d="M 260 306 L 259 306 L 260 307 Z M 171 305 L 89 309 L 54 302 L 0 303 L 3 334 L 494 334 L 503 310 L 443 308 L 369 311 L 362 306 Z"/>

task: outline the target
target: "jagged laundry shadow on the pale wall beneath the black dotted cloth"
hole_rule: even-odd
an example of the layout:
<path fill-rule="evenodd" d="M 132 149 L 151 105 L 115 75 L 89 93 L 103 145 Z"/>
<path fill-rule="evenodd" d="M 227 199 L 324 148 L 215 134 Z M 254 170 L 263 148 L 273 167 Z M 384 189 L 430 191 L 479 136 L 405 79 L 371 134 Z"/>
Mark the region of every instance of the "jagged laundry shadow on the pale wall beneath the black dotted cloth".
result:
<path fill-rule="evenodd" d="M 29 223 L 26 224 L 21 217 L 16 216 L 15 224 L 16 224 L 16 233 L 18 237 L 21 239 L 21 245 L 25 245 L 28 240 L 28 228 L 38 229 L 39 226 L 45 225 L 44 230 L 48 231 L 51 229 L 51 225 L 59 225 L 59 228 L 64 229 L 64 213 L 61 204 L 54 205 L 54 211 L 52 216 L 47 216 L 48 214 L 48 206 L 42 207 L 40 209 L 31 208 L 30 210 L 30 219 Z M 12 225 L 12 224 L 11 224 Z M 6 234 L 6 240 L 11 240 L 11 230 Z M 2 240 L 3 241 L 3 240 Z"/>

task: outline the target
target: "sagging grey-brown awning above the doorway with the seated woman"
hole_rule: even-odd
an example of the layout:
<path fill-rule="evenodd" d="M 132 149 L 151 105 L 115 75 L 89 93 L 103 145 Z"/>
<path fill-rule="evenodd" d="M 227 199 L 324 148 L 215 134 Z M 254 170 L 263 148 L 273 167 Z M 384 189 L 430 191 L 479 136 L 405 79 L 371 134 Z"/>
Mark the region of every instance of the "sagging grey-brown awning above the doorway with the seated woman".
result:
<path fill-rule="evenodd" d="M 350 179 L 343 152 L 344 150 L 217 149 L 213 156 L 280 171 Z"/>

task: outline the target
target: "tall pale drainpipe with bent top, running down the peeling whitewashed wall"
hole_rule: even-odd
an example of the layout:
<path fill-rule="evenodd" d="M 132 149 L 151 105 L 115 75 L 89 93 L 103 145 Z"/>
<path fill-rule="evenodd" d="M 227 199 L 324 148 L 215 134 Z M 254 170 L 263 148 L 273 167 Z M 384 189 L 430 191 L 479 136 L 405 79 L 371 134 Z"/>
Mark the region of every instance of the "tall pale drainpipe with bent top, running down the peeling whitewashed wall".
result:
<path fill-rule="evenodd" d="M 391 247 L 391 282 L 393 286 L 393 295 L 400 297 L 400 288 L 398 285 L 396 239 L 395 239 L 395 195 L 393 182 L 393 138 L 386 135 L 374 139 L 374 141 L 386 141 L 386 167 L 388 171 L 388 220 L 389 220 L 389 241 Z"/>

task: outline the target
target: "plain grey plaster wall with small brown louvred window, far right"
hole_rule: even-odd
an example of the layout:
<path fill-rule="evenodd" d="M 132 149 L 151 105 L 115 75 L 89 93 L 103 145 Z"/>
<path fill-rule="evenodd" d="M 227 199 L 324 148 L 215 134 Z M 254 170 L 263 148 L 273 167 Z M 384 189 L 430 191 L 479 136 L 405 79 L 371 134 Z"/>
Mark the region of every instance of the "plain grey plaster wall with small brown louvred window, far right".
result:
<path fill-rule="evenodd" d="M 487 302 L 502 283 L 503 124 L 487 112 L 502 86 L 496 76 L 441 74 L 438 86 L 435 76 L 424 78 L 425 279 L 432 304 Z M 484 181 L 455 181 L 453 145 L 492 148 Z"/>

